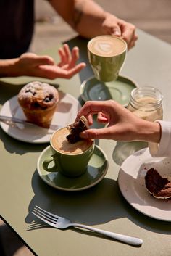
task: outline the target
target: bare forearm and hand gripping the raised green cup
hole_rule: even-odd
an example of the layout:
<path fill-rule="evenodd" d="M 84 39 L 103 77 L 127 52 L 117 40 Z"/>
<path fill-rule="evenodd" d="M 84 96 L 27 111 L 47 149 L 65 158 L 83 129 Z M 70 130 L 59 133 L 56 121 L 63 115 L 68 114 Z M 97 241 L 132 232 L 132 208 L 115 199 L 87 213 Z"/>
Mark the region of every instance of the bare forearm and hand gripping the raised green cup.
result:
<path fill-rule="evenodd" d="M 135 45 L 135 26 L 106 12 L 92 0 L 49 0 L 63 19 L 81 36 L 92 38 L 103 34 L 122 36 L 128 49 Z"/>

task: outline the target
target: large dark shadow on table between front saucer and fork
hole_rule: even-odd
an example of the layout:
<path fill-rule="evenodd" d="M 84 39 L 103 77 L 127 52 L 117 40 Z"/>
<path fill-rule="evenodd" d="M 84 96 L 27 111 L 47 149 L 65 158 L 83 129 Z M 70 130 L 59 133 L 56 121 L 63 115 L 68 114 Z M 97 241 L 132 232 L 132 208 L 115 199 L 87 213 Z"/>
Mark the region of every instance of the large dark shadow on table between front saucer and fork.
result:
<path fill-rule="evenodd" d="M 65 192 L 47 186 L 35 171 L 32 179 L 35 196 L 30 201 L 28 231 L 44 228 L 42 223 L 31 212 L 35 205 L 56 215 L 69 218 L 73 222 L 86 225 L 108 223 L 118 218 L 128 218 L 136 225 L 160 234 L 171 234 L 171 223 L 149 218 L 133 209 L 122 197 L 117 181 L 104 178 L 91 189 L 79 192 Z"/>

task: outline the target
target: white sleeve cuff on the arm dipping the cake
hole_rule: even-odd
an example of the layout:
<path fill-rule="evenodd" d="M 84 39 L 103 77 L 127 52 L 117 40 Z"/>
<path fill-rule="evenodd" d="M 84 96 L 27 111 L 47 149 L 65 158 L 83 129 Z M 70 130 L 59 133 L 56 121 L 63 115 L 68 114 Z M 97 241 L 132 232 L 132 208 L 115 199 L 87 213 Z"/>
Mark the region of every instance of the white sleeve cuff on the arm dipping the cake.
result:
<path fill-rule="evenodd" d="M 161 126 L 159 144 L 149 142 L 149 152 L 152 157 L 171 157 L 171 122 L 157 120 Z"/>

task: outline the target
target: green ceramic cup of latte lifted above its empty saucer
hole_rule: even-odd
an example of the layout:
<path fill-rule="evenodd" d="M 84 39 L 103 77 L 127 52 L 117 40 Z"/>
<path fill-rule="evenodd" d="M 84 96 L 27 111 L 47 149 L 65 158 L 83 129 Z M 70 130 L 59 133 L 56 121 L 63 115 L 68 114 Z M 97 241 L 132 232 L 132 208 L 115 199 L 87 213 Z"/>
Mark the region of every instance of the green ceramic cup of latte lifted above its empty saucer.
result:
<path fill-rule="evenodd" d="M 96 36 L 88 42 L 89 63 L 95 77 L 103 82 L 117 80 L 126 53 L 126 42 L 117 36 Z"/>

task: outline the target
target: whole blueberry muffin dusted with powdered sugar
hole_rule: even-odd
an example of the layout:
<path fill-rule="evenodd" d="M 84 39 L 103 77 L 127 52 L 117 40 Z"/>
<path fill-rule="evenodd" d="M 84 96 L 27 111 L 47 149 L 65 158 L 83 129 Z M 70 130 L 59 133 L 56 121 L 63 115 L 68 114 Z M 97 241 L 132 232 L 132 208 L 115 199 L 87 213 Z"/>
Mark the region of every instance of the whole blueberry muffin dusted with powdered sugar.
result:
<path fill-rule="evenodd" d="M 27 120 L 44 128 L 49 128 L 58 101 L 57 89 L 38 81 L 28 83 L 18 94 L 18 102 Z"/>

